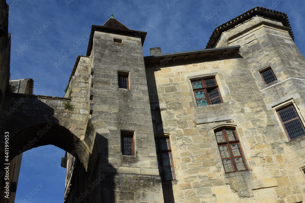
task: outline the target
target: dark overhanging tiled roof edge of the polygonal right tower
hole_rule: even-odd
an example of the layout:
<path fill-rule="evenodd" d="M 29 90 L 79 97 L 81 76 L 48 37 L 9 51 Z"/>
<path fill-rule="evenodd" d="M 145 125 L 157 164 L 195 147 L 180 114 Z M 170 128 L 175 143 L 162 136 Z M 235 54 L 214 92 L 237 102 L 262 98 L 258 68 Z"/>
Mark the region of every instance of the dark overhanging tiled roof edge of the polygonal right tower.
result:
<path fill-rule="evenodd" d="M 227 23 L 222 24 L 221 26 L 218 26 L 217 28 L 215 28 L 215 30 L 212 33 L 212 36 L 210 37 L 210 40 L 208 42 L 208 44 L 206 45 L 206 49 L 208 48 L 213 48 L 218 40 L 218 38 L 221 36 L 221 33 L 230 30 L 231 28 L 233 28 L 234 26 L 252 18 L 253 16 L 264 16 L 267 18 L 271 18 L 271 19 L 275 19 L 275 20 L 279 20 L 282 22 L 282 24 L 285 27 L 290 28 L 289 29 L 289 34 L 292 38 L 292 40 L 294 40 L 294 36 L 291 30 L 291 26 L 287 17 L 286 13 L 282 13 L 282 12 L 278 12 L 275 10 L 271 10 L 271 9 L 266 9 L 263 7 L 255 7 L 249 11 L 246 11 L 245 13 L 243 13 L 240 16 L 237 16 L 234 19 L 229 20 Z"/>

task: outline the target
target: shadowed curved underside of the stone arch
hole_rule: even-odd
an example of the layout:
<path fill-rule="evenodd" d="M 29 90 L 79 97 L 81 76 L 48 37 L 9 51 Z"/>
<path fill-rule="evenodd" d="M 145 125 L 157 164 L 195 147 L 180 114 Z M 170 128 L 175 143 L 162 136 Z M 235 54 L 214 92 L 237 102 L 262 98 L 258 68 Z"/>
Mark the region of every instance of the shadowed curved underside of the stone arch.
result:
<path fill-rule="evenodd" d="M 37 124 L 13 135 L 9 140 L 9 160 L 22 152 L 44 145 L 54 145 L 69 152 L 87 170 L 89 152 L 85 143 L 65 127 L 52 122 Z M 5 154 L 2 151 L 0 161 L 2 166 L 4 156 Z"/>

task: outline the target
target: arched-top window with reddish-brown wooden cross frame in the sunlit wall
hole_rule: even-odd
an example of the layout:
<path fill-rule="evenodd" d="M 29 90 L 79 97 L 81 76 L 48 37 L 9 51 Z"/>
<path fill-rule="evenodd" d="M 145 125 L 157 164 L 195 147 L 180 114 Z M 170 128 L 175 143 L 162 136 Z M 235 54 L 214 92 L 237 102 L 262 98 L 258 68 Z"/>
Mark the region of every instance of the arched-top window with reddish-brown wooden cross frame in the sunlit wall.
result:
<path fill-rule="evenodd" d="M 248 170 L 236 131 L 223 128 L 214 133 L 225 173 Z"/>

